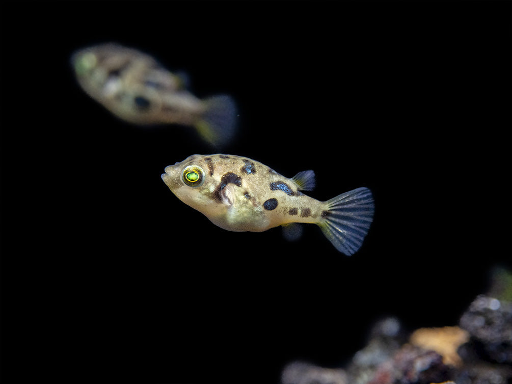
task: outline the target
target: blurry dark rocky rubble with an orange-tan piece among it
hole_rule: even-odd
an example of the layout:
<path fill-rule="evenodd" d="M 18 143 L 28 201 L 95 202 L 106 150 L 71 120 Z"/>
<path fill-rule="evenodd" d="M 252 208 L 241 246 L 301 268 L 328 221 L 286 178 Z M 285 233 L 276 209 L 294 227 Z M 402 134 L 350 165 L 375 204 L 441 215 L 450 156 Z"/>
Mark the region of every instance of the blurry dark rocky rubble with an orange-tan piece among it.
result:
<path fill-rule="evenodd" d="M 282 384 L 506 384 L 512 382 L 512 303 L 479 295 L 459 326 L 406 332 L 378 322 L 347 367 L 285 367 Z"/>

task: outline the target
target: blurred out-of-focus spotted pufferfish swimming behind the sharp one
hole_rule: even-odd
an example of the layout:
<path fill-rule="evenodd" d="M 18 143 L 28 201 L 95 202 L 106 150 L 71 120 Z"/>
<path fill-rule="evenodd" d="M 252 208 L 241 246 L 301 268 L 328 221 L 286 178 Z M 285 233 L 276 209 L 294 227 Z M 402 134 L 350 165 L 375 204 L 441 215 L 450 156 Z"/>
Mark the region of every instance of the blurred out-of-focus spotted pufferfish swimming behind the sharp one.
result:
<path fill-rule="evenodd" d="M 82 89 L 124 121 L 194 126 L 213 145 L 234 134 L 237 111 L 230 96 L 198 99 L 185 89 L 185 76 L 149 55 L 109 43 L 79 50 L 71 61 Z"/>

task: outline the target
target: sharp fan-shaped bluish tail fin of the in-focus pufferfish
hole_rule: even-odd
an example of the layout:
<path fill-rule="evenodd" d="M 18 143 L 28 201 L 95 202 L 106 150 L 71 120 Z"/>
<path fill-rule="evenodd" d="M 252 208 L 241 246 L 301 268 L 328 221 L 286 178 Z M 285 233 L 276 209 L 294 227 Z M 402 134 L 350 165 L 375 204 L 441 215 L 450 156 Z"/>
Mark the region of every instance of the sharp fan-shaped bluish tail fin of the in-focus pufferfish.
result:
<path fill-rule="evenodd" d="M 357 188 L 326 203 L 328 209 L 317 224 L 338 251 L 350 256 L 361 247 L 372 223 L 372 193 L 368 188 Z"/>

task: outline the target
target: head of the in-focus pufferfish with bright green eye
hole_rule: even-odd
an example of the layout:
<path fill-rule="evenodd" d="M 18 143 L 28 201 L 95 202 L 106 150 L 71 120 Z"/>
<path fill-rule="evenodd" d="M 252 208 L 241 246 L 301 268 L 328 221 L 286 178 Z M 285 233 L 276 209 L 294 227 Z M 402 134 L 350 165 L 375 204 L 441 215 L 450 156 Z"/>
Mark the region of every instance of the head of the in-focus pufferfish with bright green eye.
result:
<path fill-rule="evenodd" d="M 178 199 L 203 213 L 214 205 L 217 183 L 199 155 L 166 166 L 162 180 Z"/>

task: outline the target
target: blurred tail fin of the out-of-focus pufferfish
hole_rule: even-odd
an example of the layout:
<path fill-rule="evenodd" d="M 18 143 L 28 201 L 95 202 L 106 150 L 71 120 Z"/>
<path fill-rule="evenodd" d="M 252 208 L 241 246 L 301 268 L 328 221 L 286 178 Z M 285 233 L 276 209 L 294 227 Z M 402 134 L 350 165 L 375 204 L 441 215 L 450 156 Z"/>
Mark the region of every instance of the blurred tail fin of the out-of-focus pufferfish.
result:
<path fill-rule="evenodd" d="M 204 100 L 206 109 L 195 126 L 201 137 L 215 146 L 226 145 L 236 131 L 237 106 L 227 95 Z"/>

